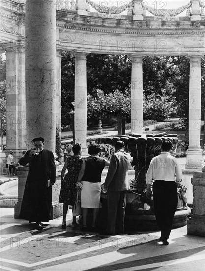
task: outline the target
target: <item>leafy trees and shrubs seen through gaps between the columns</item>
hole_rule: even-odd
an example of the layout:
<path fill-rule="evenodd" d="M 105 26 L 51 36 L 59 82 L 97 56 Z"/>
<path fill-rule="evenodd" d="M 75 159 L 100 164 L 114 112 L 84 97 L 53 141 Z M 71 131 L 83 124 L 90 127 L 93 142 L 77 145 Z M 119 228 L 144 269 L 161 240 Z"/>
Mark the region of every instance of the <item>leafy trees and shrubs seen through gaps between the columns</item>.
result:
<path fill-rule="evenodd" d="M 70 123 L 75 80 L 74 56 L 62 57 L 62 123 Z M 126 94 L 131 83 L 131 61 L 127 56 L 89 54 L 87 56 L 88 119 L 126 116 L 129 105 L 119 108 L 116 90 Z M 202 59 L 202 112 L 205 104 L 205 57 Z M 162 120 L 176 114 L 188 121 L 189 59 L 185 56 L 153 56 L 143 60 L 144 119 Z M 101 90 L 101 93 L 99 93 Z M 106 97 L 106 95 L 110 95 Z M 97 104 L 97 99 L 99 102 Z M 106 104 L 105 104 L 105 101 Z M 117 99 L 118 102 L 114 102 Z M 120 101 L 119 101 L 120 100 Z M 90 104 L 90 105 L 89 105 Z M 126 112 L 125 112 L 126 111 Z"/>

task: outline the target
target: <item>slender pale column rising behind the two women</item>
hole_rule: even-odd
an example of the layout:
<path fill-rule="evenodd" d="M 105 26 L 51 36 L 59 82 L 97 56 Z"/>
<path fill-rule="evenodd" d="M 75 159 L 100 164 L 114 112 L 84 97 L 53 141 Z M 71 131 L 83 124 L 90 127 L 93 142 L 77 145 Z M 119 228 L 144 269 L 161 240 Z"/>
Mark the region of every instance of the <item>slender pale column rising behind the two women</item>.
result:
<path fill-rule="evenodd" d="M 75 52 L 75 143 L 82 145 L 83 154 L 87 153 L 87 53 Z"/>

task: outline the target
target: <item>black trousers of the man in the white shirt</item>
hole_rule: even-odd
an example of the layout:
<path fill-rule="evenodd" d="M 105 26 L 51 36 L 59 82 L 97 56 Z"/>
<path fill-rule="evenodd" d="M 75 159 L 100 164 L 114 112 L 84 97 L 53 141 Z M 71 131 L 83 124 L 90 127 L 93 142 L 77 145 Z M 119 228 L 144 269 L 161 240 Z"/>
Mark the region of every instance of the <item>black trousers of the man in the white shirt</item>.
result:
<path fill-rule="evenodd" d="M 153 183 L 154 210 L 157 225 L 164 239 L 169 239 L 178 196 L 175 181 L 156 180 Z"/>

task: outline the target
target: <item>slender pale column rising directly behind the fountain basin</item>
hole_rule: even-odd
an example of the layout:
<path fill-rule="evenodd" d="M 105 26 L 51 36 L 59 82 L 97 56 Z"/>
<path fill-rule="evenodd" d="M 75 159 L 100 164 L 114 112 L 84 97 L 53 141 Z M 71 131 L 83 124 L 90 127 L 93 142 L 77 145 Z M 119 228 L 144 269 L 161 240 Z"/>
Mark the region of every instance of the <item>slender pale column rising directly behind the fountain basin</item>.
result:
<path fill-rule="evenodd" d="M 143 134 L 143 56 L 131 55 L 131 132 Z"/>

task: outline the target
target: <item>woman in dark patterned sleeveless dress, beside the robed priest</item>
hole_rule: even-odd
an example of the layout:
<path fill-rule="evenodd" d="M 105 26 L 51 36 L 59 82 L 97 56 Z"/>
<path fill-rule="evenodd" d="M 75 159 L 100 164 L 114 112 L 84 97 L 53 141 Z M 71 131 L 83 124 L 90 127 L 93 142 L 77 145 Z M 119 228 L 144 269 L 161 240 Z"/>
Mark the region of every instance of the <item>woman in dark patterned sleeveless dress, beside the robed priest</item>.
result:
<path fill-rule="evenodd" d="M 66 228 L 66 215 L 68 206 L 74 206 L 77 197 L 76 183 L 84 159 L 81 157 L 81 145 L 75 144 L 72 150 L 74 155 L 68 156 L 68 158 L 65 160 L 65 164 L 61 172 L 61 190 L 59 195 L 59 203 L 63 203 L 62 229 Z M 64 177 L 66 169 L 68 172 Z M 72 227 L 74 228 L 77 225 L 78 223 L 76 222 L 76 217 L 73 216 Z"/>

